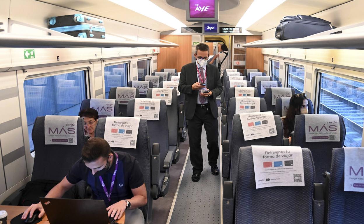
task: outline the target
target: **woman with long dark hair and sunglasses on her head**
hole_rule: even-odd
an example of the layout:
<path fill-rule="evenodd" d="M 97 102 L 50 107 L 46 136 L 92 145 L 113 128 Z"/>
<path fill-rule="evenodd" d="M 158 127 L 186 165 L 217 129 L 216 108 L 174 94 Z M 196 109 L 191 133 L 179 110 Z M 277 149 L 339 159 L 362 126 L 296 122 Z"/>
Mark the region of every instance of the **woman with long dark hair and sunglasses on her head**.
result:
<path fill-rule="evenodd" d="M 291 141 L 291 133 L 294 130 L 294 118 L 296 114 L 308 113 L 308 99 L 305 93 L 294 94 L 289 101 L 289 108 L 285 117 L 282 117 L 283 134 Z"/>

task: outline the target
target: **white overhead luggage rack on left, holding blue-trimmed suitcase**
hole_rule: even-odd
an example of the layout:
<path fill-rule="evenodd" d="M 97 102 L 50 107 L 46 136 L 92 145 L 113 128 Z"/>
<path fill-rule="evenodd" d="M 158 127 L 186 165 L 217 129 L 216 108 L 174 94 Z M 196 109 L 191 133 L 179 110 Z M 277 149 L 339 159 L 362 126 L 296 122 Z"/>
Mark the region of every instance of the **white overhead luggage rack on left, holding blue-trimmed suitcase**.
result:
<path fill-rule="evenodd" d="M 51 33 L 52 36 L 24 36 L 19 34 L 11 34 L 11 25 L 20 24 L 27 27 L 39 29 Z M 1 33 L 0 48 L 136 48 L 136 47 L 173 47 L 179 45 L 166 41 L 135 41 L 121 37 L 120 40 L 103 40 L 103 39 L 87 39 L 72 37 L 64 33 L 54 30 L 37 27 L 31 24 L 25 24 L 14 20 L 9 20 L 9 33 Z M 114 37 L 119 35 L 109 34 Z"/>

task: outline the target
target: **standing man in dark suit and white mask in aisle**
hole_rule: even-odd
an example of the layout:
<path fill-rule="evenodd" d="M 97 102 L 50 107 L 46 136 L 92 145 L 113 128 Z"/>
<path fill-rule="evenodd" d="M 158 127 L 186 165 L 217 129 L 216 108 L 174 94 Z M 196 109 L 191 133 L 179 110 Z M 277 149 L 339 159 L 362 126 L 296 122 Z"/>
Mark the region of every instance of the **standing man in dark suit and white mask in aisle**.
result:
<path fill-rule="evenodd" d="M 185 116 L 188 121 L 190 141 L 190 159 L 193 166 L 192 181 L 198 182 L 203 170 L 201 149 L 202 125 L 207 135 L 208 158 L 213 175 L 219 174 L 217 159 L 218 146 L 218 110 L 216 97 L 222 91 L 219 69 L 207 63 L 209 46 L 199 44 L 195 52 L 196 62 L 182 67 L 178 90 L 185 93 Z"/>

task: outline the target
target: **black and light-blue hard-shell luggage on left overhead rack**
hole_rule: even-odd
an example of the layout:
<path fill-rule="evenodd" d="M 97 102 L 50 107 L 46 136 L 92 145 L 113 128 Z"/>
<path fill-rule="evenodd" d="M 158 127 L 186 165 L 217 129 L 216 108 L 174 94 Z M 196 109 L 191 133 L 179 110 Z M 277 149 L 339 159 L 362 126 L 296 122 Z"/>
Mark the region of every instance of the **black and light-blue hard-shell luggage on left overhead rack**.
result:
<path fill-rule="evenodd" d="M 74 37 L 105 38 L 102 19 L 83 14 L 56 16 L 47 20 L 48 28 Z"/>

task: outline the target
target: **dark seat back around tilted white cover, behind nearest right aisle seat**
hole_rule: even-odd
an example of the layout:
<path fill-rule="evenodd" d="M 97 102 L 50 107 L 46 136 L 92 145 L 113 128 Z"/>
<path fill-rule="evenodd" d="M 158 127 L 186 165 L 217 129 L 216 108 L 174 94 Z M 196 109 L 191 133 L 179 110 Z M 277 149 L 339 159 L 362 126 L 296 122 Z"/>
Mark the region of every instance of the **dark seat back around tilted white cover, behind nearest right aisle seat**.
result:
<path fill-rule="evenodd" d="M 252 145 L 266 145 L 266 146 L 282 146 L 283 145 L 283 125 L 281 117 L 278 115 L 274 116 L 274 122 L 276 123 L 277 135 L 259 138 L 246 141 L 244 139 L 243 129 L 241 127 L 240 115 L 235 114 L 233 117 L 233 130 L 230 141 L 230 155 L 231 155 L 231 166 L 230 166 L 230 180 L 234 181 L 236 178 L 237 164 L 238 164 L 238 151 L 240 147 L 252 146 Z"/>

